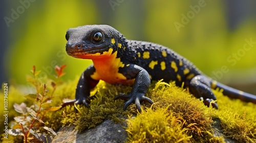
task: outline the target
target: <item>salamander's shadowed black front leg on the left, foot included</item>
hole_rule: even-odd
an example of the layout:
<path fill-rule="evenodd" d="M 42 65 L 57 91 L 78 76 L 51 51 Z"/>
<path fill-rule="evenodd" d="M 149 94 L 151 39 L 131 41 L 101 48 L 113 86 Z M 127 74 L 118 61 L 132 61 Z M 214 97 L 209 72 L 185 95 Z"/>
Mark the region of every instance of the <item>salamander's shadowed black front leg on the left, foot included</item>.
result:
<path fill-rule="evenodd" d="M 76 96 L 75 99 L 69 102 L 62 104 L 62 107 L 65 107 L 70 104 L 83 104 L 84 106 L 89 107 L 91 102 L 90 91 L 93 89 L 99 81 L 91 78 L 91 75 L 95 72 L 93 65 L 89 66 L 86 70 L 83 71 L 77 87 L 76 87 Z M 76 111 L 76 109 L 75 109 Z"/>

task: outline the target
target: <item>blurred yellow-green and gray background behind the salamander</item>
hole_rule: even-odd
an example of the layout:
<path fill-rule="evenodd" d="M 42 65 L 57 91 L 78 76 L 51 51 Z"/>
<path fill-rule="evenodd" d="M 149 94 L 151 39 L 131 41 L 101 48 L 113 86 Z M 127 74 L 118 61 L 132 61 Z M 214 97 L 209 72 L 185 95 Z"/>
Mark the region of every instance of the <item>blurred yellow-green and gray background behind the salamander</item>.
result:
<path fill-rule="evenodd" d="M 66 54 L 66 30 L 106 24 L 128 39 L 167 46 L 209 77 L 256 94 L 256 1 L 1 3 L 1 82 L 27 84 L 33 65 L 43 77 L 56 64 L 66 64 L 63 78 L 73 80 L 92 62 Z"/>

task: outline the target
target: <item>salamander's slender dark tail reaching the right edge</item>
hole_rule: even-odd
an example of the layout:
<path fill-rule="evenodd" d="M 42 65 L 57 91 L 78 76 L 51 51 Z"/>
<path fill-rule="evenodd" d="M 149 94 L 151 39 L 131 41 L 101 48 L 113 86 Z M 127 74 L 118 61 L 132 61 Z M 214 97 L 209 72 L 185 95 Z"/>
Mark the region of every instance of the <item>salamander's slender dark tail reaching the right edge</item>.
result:
<path fill-rule="evenodd" d="M 227 85 L 221 84 L 217 81 L 212 81 L 211 88 L 216 89 L 217 87 L 223 89 L 223 94 L 225 96 L 228 96 L 229 98 L 240 99 L 241 101 L 252 102 L 256 104 L 256 96 L 253 94 L 246 93 L 238 89 L 234 89 Z"/>

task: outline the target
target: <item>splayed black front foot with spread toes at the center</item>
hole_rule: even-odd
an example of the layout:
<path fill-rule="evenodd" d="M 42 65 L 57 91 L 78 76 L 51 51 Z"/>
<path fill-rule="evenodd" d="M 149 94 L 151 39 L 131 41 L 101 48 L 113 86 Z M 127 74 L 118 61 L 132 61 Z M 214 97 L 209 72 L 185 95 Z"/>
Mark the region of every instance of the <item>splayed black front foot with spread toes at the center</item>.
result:
<path fill-rule="evenodd" d="M 140 113 L 141 113 L 140 102 L 147 102 L 150 104 L 154 103 L 150 98 L 145 97 L 143 93 L 136 93 L 136 95 L 135 94 L 132 95 L 131 93 L 127 95 L 120 93 L 115 97 L 114 100 L 117 100 L 117 99 L 128 100 L 124 103 L 123 110 L 126 110 L 126 108 L 134 102 Z"/>

